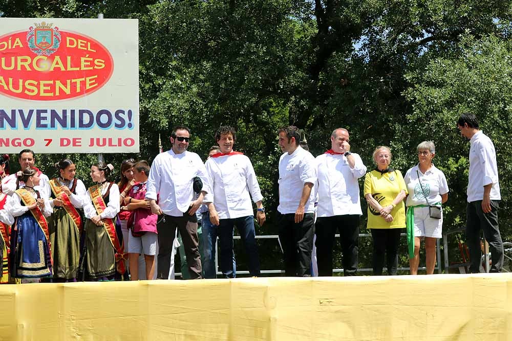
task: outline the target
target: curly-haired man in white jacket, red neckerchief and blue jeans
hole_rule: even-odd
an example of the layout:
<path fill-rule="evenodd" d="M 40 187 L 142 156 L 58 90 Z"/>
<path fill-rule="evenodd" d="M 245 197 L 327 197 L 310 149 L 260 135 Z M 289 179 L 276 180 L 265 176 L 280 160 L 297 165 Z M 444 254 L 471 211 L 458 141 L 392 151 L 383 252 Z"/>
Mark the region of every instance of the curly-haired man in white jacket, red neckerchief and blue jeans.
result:
<path fill-rule="evenodd" d="M 254 231 L 252 201 L 256 203 L 256 219 L 260 226 L 265 222 L 260 185 L 251 161 L 243 153 L 233 151 L 236 131 L 222 126 L 215 134 L 221 152 L 206 161 L 212 191 L 204 201 L 208 205 L 210 221 L 219 226 L 221 270 L 226 278 L 233 278 L 233 227 L 237 225 L 247 253 L 249 273 L 260 276 L 260 260 Z"/>

